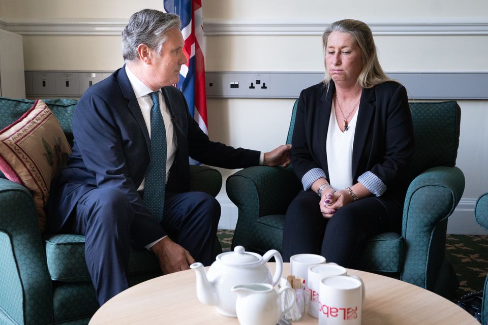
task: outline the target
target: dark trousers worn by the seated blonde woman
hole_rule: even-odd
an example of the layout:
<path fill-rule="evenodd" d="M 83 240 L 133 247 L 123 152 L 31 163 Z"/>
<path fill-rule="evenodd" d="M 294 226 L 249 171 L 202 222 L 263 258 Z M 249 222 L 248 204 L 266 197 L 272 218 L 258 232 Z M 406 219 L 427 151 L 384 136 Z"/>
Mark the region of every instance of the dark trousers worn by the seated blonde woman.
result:
<path fill-rule="evenodd" d="M 368 237 L 400 229 L 402 209 L 388 200 L 368 197 L 322 216 L 320 198 L 311 190 L 300 191 L 285 215 L 283 260 L 300 253 L 319 254 L 327 262 L 354 267 Z M 391 226 L 393 225 L 393 226 Z"/>

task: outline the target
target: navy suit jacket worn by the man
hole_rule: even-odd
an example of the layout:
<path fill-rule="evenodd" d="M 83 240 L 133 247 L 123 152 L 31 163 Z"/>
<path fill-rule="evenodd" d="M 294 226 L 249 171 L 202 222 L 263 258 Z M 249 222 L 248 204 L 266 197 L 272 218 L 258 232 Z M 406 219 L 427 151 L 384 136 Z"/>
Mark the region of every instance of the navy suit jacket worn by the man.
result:
<path fill-rule="evenodd" d="M 259 164 L 259 151 L 210 141 L 189 114 L 183 94 L 173 86 L 161 90 L 177 138 L 167 190 L 190 189 L 189 156 L 223 168 Z M 51 185 L 49 231 L 59 231 L 83 194 L 97 187 L 121 191 L 135 214 L 151 215 L 137 192 L 149 164 L 149 134 L 125 67 L 88 88 L 76 106 L 72 129 L 73 153 Z"/>

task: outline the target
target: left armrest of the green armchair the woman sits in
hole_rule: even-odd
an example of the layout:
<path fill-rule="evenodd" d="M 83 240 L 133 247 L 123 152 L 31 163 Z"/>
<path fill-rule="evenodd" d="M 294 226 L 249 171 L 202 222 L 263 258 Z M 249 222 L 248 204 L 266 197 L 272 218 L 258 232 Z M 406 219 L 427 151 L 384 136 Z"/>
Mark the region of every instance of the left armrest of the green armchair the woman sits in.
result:
<path fill-rule="evenodd" d="M 252 221 L 263 215 L 285 214 L 301 188 L 291 166 L 255 166 L 229 176 L 227 195 L 239 210 L 232 246 L 249 246 Z"/>

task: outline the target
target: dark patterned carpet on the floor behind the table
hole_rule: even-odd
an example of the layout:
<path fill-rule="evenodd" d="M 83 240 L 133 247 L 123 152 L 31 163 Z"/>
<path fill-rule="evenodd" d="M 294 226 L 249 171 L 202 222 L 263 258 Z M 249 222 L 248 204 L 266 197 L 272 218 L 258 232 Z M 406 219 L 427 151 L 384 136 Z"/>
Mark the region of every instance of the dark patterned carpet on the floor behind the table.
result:
<path fill-rule="evenodd" d="M 232 230 L 219 230 L 224 251 L 230 250 Z M 481 290 L 488 270 L 488 235 L 447 235 L 446 253 L 457 274 L 460 287 L 456 299 Z"/>

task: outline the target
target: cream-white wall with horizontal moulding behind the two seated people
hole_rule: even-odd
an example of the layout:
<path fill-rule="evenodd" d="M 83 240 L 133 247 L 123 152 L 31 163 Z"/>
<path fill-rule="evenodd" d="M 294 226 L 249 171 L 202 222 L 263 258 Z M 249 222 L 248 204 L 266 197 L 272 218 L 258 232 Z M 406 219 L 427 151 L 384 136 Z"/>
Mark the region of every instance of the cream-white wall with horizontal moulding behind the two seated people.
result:
<path fill-rule="evenodd" d="M 122 64 L 119 34 L 129 16 L 143 8 L 162 10 L 162 3 L 3 0 L 0 27 L 23 34 L 26 70 L 110 71 Z M 387 72 L 487 72 L 487 12 L 485 0 L 203 0 L 205 69 L 323 71 L 323 27 L 338 19 L 355 18 L 372 26 Z M 94 25 L 103 32 L 90 27 Z M 233 146 L 270 150 L 285 141 L 292 103 L 208 99 L 209 136 Z M 476 198 L 488 191 L 488 100 L 459 104 L 457 166 L 466 175 L 466 189 L 449 219 L 448 231 L 485 233 L 474 222 L 473 209 Z M 223 171 L 224 178 L 231 172 Z M 219 198 L 223 210 L 233 215 L 232 224 L 236 214 L 231 212 L 224 189 Z"/>

